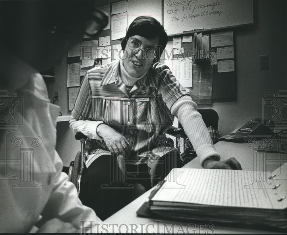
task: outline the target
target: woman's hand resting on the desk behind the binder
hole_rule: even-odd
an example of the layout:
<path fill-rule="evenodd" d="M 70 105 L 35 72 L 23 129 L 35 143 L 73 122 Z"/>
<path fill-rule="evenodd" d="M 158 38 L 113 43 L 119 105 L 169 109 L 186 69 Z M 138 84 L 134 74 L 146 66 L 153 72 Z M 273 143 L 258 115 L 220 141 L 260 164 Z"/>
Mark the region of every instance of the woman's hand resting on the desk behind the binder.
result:
<path fill-rule="evenodd" d="M 207 159 L 203 162 L 203 167 L 207 169 L 242 170 L 240 163 L 234 157 L 224 161 Z"/>

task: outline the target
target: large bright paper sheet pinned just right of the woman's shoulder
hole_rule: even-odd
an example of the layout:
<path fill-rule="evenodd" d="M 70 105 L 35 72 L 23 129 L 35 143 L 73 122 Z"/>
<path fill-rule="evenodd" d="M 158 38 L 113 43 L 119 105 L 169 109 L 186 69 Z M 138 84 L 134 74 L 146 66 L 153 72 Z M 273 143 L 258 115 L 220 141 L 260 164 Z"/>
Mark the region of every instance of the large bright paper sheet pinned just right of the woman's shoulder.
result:
<path fill-rule="evenodd" d="M 173 60 L 172 73 L 183 87 L 192 87 L 192 60 Z"/>

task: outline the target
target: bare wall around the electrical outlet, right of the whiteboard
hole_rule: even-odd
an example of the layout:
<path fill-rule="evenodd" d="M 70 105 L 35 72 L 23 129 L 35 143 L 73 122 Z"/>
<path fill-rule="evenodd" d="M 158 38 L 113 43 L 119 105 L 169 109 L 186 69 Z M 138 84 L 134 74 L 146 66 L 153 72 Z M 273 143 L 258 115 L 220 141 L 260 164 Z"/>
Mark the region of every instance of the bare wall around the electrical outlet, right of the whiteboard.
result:
<path fill-rule="evenodd" d="M 237 101 L 212 105 L 222 134 L 262 117 L 265 93 L 286 91 L 286 1 L 260 0 L 256 8 L 256 26 L 235 31 Z M 269 69 L 259 70 L 259 55 L 266 54 Z M 282 114 L 286 117 L 286 109 Z M 271 114 L 265 117 L 272 119 Z"/>

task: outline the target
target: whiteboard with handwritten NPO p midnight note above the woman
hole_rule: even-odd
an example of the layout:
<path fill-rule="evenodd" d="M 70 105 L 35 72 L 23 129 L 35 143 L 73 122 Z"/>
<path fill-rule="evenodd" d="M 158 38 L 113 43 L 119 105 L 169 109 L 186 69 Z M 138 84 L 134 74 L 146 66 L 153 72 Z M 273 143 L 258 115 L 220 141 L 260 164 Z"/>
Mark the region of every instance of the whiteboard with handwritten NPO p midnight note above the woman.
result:
<path fill-rule="evenodd" d="M 253 0 L 164 0 L 168 35 L 253 23 Z"/>

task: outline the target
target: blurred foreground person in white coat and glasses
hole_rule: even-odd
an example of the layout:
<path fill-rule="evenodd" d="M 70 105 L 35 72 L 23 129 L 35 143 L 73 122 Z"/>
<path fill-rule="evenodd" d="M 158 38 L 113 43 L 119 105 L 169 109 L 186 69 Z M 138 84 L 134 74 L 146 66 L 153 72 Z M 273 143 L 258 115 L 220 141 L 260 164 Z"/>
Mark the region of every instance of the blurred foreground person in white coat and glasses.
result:
<path fill-rule="evenodd" d="M 101 220 L 61 172 L 59 107 L 39 71 L 59 64 L 85 33 L 98 34 L 107 17 L 94 1 L 1 1 L 0 7 L 0 232 L 89 230 L 90 221 Z"/>

